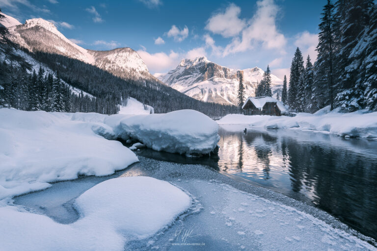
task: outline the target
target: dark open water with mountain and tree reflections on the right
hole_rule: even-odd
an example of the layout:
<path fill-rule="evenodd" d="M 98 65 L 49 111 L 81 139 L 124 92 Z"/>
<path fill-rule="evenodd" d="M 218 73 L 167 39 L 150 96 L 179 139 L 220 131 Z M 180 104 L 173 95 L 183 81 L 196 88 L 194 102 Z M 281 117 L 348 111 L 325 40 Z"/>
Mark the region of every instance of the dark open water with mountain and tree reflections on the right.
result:
<path fill-rule="evenodd" d="M 377 238 L 377 141 L 220 128 L 218 167 L 293 196 Z"/>

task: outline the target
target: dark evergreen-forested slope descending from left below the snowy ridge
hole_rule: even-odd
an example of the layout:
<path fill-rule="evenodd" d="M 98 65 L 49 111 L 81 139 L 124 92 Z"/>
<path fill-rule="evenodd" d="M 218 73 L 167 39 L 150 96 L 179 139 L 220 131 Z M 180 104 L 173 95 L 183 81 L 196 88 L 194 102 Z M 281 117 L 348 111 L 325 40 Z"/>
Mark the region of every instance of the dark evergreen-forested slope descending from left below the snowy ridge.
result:
<path fill-rule="evenodd" d="M 238 112 L 234 105 L 192 99 L 148 72 L 134 74 L 111 64 L 104 70 L 101 65 L 61 54 L 31 52 L 12 42 L 8 35 L 7 29 L 0 27 L 0 107 L 115 114 L 121 100 L 133 97 L 154 107 L 156 113 L 193 109 L 209 116 L 223 116 Z M 107 60 L 104 52 L 89 52 L 99 60 Z"/>

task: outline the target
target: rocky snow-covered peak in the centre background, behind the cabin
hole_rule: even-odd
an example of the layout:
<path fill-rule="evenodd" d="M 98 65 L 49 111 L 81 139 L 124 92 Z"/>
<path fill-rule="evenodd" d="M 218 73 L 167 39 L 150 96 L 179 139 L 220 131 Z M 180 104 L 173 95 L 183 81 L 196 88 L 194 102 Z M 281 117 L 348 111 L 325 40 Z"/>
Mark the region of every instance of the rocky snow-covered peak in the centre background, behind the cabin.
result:
<path fill-rule="evenodd" d="M 264 74 L 258 67 L 235 70 L 215 64 L 206 57 L 197 57 L 194 60 L 182 59 L 174 70 L 154 76 L 194 99 L 237 104 L 240 74 L 243 74 L 246 96 L 254 96 L 257 82 L 263 79 Z M 272 92 L 276 95 L 283 80 L 275 75 L 271 78 Z"/>

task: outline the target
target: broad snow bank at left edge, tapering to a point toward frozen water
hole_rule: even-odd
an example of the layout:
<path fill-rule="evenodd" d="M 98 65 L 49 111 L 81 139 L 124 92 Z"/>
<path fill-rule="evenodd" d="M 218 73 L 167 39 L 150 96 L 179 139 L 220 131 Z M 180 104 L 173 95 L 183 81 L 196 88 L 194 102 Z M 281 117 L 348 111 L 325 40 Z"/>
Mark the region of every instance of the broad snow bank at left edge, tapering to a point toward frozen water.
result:
<path fill-rule="evenodd" d="M 82 122 L 89 117 L 102 116 L 0 109 L 0 200 L 47 188 L 51 181 L 110 175 L 138 161 L 120 142 L 94 132 L 111 128 Z"/>

